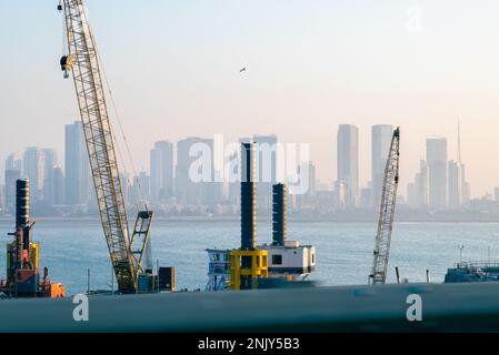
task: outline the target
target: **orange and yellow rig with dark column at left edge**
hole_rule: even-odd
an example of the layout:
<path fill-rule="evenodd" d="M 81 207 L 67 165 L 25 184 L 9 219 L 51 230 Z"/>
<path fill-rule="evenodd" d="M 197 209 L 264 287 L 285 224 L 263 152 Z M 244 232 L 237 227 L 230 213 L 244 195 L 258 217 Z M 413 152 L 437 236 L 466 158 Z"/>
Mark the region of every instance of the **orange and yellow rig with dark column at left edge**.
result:
<path fill-rule="evenodd" d="M 48 267 L 40 280 L 40 245 L 32 241 L 34 222 L 30 220 L 29 179 L 16 182 L 16 232 L 7 244 L 7 280 L 0 281 L 0 292 L 12 297 L 63 297 L 66 288 L 51 283 Z"/>

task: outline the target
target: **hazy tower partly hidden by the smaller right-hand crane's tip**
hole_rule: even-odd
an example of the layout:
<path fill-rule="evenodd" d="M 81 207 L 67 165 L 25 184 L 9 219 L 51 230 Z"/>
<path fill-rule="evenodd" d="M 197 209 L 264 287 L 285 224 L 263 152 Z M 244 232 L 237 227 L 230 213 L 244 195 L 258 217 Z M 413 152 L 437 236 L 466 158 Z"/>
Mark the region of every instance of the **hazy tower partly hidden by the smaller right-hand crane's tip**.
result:
<path fill-rule="evenodd" d="M 379 206 L 381 200 L 392 134 L 393 126 L 390 124 L 377 124 L 371 128 L 371 196 L 375 206 Z"/>

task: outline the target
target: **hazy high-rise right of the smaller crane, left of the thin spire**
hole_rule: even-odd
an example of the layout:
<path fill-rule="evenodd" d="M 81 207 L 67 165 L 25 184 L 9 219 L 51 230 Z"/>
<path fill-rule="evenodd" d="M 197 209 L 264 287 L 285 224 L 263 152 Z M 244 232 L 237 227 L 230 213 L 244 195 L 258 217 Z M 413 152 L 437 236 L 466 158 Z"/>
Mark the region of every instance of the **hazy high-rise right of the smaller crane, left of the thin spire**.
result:
<path fill-rule="evenodd" d="M 447 206 L 447 139 L 427 139 L 427 163 L 429 205 L 432 209 Z"/>

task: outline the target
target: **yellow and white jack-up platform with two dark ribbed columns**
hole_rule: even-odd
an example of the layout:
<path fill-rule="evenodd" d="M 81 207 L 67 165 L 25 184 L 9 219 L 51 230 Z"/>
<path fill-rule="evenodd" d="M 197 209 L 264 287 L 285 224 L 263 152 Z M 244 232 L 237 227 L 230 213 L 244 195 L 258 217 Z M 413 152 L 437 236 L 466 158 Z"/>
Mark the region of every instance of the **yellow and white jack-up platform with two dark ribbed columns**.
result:
<path fill-rule="evenodd" d="M 241 247 L 209 248 L 207 291 L 258 288 L 271 281 L 306 278 L 316 270 L 316 248 L 287 239 L 287 187 L 272 185 L 272 243 L 257 245 L 255 142 L 241 144 Z"/>

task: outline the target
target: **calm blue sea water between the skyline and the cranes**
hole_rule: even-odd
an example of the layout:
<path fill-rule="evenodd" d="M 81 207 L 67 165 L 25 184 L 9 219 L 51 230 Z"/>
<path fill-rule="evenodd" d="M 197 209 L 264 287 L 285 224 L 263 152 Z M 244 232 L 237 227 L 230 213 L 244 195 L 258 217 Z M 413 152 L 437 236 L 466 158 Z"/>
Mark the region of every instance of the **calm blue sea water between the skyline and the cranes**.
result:
<path fill-rule="evenodd" d="M 177 287 L 204 288 L 207 247 L 237 247 L 238 222 L 161 222 L 153 225 L 153 257 L 161 265 L 177 267 Z M 366 284 L 372 263 L 376 236 L 373 223 L 297 222 L 289 223 L 289 239 L 317 248 L 313 278 L 323 285 Z M 0 222 L 0 235 L 12 223 Z M 40 266 L 50 277 L 62 282 L 69 294 L 87 290 L 87 270 L 91 288 L 110 288 L 111 267 L 100 224 L 88 221 L 39 221 L 34 240 L 41 244 Z M 258 224 L 258 242 L 269 242 L 270 223 Z M 425 281 L 430 270 L 433 282 L 442 282 L 447 267 L 459 261 L 458 245 L 463 244 L 465 260 L 487 261 L 499 253 L 499 223 L 398 223 L 393 229 L 389 282 L 393 267 L 409 281 Z M 6 273 L 4 247 L 0 253 L 0 277 Z M 116 285 L 116 284 L 114 284 Z"/>

